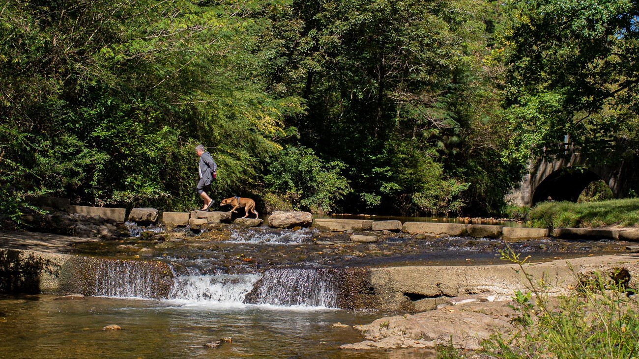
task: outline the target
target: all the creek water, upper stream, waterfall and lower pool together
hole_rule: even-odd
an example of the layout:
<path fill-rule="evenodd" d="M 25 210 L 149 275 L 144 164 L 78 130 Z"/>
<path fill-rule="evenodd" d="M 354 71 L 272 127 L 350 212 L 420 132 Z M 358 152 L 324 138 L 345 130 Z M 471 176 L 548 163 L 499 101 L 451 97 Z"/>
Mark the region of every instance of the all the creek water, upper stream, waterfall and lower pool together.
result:
<path fill-rule="evenodd" d="M 337 309 L 339 271 L 502 264 L 505 248 L 502 240 L 404 234 L 351 243 L 346 234 L 266 227 L 233 229 L 222 241 L 216 235 L 74 245 L 86 256 L 82 285 L 95 296 L 0 296 L 0 358 L 428 358 L 434 353 L 341 351 L 363 339 L 333 323 L 366 324 L 389 313 Z M 626 244 L 545 239 L 510 247 L 546 261 L 622 252 Z M 102 330 L 111 324 L 123 330 Z M 204 347 L 223 337 L 232 342 Z"/>

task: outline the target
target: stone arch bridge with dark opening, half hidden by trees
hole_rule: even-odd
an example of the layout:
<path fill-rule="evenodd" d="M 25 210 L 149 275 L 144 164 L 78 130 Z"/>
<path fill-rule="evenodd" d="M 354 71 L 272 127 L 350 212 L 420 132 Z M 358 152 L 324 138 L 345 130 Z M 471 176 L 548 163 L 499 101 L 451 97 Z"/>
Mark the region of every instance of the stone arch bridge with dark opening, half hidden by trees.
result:
<path fill-rule="evenodd" d="M 585 165 L 585 157 L 570 143 L 558 144 L 553 158 L 537 158 L 528 174 L 507 195 L 506 201 L 518 206 L 534 206 L 537 202 L 572 201 L 591 182 L 602 179 L 615 198 L 626 197 L 639 185 L 639 164 L 636 158 L 621 160 L 614 165 Z"/>

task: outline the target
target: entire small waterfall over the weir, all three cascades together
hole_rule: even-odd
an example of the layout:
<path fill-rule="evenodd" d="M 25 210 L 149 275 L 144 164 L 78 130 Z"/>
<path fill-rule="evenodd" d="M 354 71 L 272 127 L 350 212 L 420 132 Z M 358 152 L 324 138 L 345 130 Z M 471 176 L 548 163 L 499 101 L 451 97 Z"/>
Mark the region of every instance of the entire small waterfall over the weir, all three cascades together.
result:
<path fill-rule="evenodd" d="M 201 274 L 159 261 L 75 257 L 61 280 L 65 291 L 117 298 L 169 299 L 189 303 L 337 308 L 337 270 L 281 268 L 265 273 Z"/>

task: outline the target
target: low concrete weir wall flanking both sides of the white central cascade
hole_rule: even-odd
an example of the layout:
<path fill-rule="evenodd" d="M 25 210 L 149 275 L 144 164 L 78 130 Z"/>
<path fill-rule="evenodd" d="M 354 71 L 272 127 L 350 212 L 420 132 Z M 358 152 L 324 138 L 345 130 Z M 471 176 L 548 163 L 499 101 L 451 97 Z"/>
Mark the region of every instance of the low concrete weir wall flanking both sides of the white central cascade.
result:
<path fill-rule="evenodd" d="M 572 269 L 571 269 L 572 266 Z M 564 294 L 578 283 L 579 273 L 599 271 L 627 287 L 639 284 L 639 257 L 585 257 L 524 264 L 526 273 L 544 278 L 549 293 Z M 529 284 L 516 264 L 489 266 L 395 266 L 335 269 L 339 279 L 337 307 L 421 312 L 449 303 L 450 298 L 493 293 L 510 298 Z M 0 249 L 0 293 L 84 294 L 167 298 L 173 274 L 160 261 L 116 260 L 30 250 Z"/>

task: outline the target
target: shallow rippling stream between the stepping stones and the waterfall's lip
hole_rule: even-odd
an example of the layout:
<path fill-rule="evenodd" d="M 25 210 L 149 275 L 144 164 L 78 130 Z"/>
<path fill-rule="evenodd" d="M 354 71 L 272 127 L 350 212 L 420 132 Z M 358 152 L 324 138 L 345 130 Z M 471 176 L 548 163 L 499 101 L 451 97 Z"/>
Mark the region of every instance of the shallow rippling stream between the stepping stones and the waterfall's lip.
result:
<path fill-rule="evenodd" d="M 142 232 L 143 233 L 143 232 Z M 626 252 L 627 242 L 608 240 L 504 241 L 488 238 L 379 235 L 374 243 L 351 241 L 352 233 L 316 229 L 243 228 L 220 225 L 193 233 L 189 229 L 161 236 L 73 243 L 72 252 L 118 259 L 155 259 L 177 274 L 240 274 L 269 268 L 353 268 L 362 266 L 504 264 L 508 245 L 530 261 L 550 261 Z M 370 232 L 357 234 L 373 234 Z"/>

